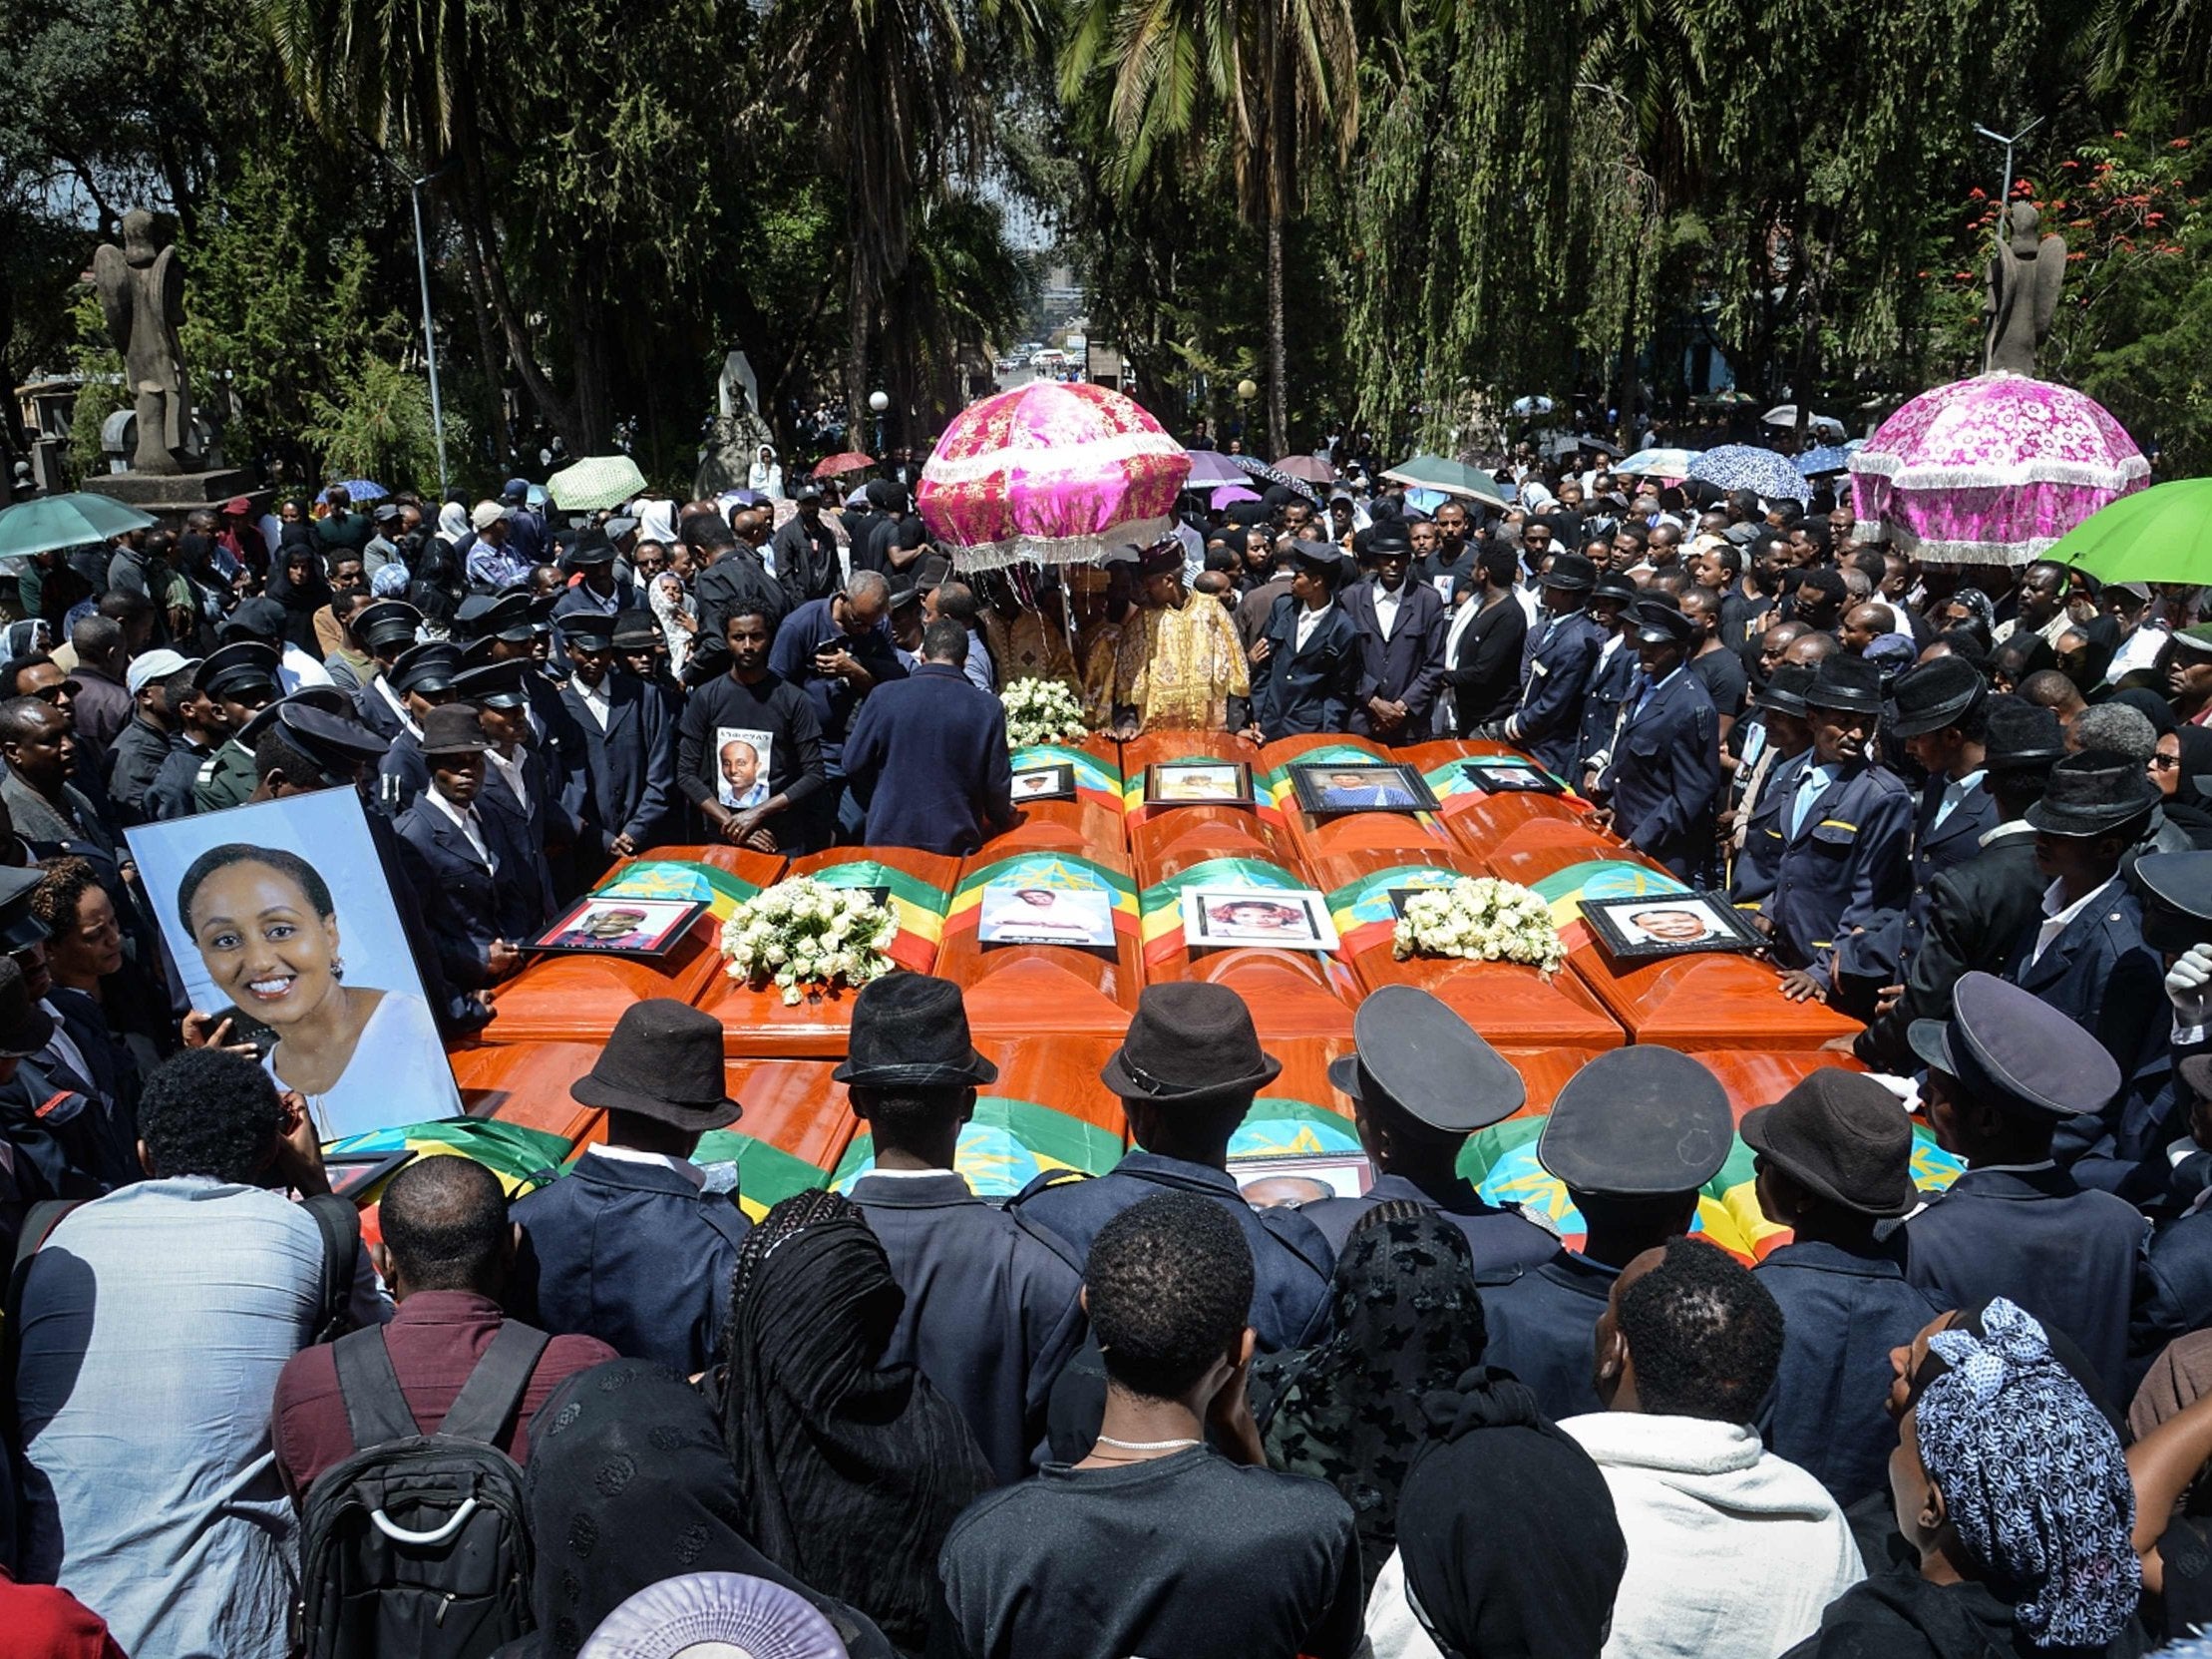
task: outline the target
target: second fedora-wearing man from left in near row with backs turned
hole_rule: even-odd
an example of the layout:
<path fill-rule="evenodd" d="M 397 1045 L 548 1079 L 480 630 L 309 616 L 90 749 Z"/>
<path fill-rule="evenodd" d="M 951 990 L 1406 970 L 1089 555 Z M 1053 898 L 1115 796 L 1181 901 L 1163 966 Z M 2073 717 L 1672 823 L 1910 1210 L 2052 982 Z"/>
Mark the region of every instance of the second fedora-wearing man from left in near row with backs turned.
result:
<path fill-rule="evenodd" d="M 869 980 L 832 1073 L 874 1164 L 852 1201 L 907 1292 L 880 1365 L 914 1363 L 951 1400 L 1002 1484 L 1035 1473 L 1053 1380 L 1082 1345 L 1082 1256 L 956 1172 L 978 1086 L 998 1066 L 969 1042 L 960 987 L 927 973 Z"/>

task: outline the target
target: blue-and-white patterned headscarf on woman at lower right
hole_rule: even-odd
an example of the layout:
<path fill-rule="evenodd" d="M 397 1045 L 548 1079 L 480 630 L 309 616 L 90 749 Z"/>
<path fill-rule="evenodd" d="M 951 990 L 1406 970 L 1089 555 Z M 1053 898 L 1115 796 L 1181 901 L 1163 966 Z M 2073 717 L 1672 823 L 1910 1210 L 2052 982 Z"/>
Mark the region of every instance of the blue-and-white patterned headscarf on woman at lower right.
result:
<path fill-rule="evenodd" d="M 2039 1648 L 2101 1648 L 2135 1615 L 2135 1486 L 2119 1436 L 2004 1296 L 1982 1336 L 1936 1332 L 1944 1369 L 1916 1407 L 1920 1460 L 1960 1542 Z M 1924 1376 L 1922 1367 L 1922 1376 Z"/>

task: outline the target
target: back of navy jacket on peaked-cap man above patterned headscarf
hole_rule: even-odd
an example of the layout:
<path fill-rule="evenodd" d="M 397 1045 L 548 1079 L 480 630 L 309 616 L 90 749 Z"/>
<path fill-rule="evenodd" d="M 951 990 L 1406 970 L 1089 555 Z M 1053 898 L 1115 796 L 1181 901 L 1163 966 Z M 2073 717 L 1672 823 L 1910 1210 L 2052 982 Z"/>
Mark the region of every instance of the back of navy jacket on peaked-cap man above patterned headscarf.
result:
<path fill-rule="evenodd" d="M 2148 1223 L 2066 1170 L 1966 1170 L 1905 1225 L 1905 1276 L 1944 1307 L 2011 1296 L 2066 1332 L 2106 1394 L 2128 1380 Z"/>

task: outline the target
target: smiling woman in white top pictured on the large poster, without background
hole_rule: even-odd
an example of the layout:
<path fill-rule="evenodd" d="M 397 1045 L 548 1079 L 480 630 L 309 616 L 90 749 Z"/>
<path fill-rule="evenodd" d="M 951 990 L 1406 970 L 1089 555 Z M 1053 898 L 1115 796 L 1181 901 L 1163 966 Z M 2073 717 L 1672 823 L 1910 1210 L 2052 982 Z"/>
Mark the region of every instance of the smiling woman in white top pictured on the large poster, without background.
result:
<path fill-rule="evenodd" d="M 294 852 L 232 841 L 177 883 L 177 916 L 215 989 L 274 1033 L 261 1064 L 327 1139 L 451 1110 L 453 1079 L 420 998 L 345 982 L 338 907 Z M 367 1064 L 354 1066 L 363 1057 Z"/>

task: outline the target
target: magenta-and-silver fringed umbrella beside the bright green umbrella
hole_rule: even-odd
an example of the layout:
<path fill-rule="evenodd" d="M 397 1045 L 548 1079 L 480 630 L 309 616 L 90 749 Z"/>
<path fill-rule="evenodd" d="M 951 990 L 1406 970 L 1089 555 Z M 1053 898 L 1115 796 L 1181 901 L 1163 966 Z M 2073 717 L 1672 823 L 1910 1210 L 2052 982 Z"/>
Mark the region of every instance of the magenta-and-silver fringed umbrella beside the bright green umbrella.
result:
<path fill-rule="evenodd" d="M 1922 392 L 1849 465 L 1858 535 L 1929 564 L 2028 564 L 2150 478 L 2095 398 L 2004 372 Z"/>

